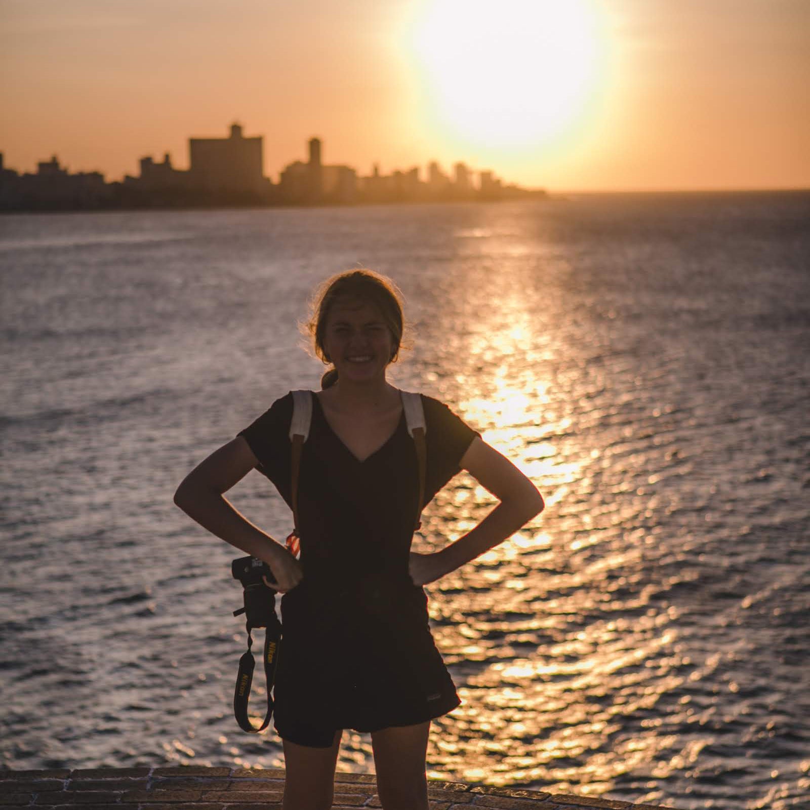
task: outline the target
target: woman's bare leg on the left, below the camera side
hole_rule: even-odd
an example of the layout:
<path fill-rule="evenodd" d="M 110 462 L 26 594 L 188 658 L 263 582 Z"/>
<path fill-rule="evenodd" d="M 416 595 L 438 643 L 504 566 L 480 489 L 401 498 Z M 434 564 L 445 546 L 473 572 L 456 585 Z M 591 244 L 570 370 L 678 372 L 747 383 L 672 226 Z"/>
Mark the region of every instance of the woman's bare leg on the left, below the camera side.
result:
<path fill-rule="evenodd" d="M 312 748 L 283 740 L 283 810 L 330 810 L 342 734 L 343 731 L 335 731 L 335 740 L 329 748 Z"/>

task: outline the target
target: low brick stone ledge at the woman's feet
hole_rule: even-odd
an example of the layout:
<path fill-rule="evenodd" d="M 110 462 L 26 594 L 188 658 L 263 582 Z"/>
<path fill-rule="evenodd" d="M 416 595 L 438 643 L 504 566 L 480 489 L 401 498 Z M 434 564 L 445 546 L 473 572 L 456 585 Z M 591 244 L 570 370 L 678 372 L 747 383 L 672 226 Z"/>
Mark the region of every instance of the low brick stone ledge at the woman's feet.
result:
<path fill-rule="evenodd" d="M 2 810 L 259 810 L 281 808 L 283 770 L 177 768 L 0 771 Z M 374 777 L 336 774 L 334 808 L 379 808 Z M 653 804 L 586 799 L 525 788 L 428 782 L 431 810 L 662 810 Z"/>

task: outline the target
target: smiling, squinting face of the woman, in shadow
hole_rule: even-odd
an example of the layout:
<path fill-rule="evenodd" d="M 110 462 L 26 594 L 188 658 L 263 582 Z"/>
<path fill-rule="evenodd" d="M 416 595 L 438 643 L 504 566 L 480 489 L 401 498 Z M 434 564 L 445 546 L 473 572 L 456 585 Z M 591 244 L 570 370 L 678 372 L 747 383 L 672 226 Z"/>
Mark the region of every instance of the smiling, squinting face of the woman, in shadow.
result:
<path fill-rule="evenodd" d="M 371 382 L 385 378 L 395 345 L 385 318 L 375 305 L 343 296 L 330 308 L 323 349 L 341 380 Z"/>

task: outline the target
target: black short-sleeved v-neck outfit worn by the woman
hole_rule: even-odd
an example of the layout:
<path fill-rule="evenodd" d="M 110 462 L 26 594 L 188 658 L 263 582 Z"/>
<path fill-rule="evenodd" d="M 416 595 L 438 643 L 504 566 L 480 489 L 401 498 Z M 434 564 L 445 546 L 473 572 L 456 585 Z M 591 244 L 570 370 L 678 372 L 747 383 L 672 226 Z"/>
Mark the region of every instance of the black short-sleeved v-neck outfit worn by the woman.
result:
<path fill-rule="evenodd" d="M 423 394 L 422 402 L 427 504 L 479 434 L 437 399 Z M 239 434 L 288 505 L 291 419 L 287 394 Z M 428 626 L 427 596 L 408 574 L 418 477 L 404 414 L 360 461 L 313 395 L 298 480 L 304 578 L 281 600 L 274 725 L 284 740 L 326 747 L 337 729 L 424 723 L 458 706 Z"/>

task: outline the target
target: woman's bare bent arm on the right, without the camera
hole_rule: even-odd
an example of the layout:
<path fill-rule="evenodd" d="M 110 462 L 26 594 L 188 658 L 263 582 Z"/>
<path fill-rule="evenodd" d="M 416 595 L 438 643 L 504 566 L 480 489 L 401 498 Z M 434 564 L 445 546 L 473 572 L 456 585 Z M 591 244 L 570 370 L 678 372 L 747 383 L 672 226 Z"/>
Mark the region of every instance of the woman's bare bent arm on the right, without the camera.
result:
<path fill-rule="evenodd" d="M 434 582 L 502 543 L 544 509 L 543 497 L 508 458 L 475 437 L 461 467 L 499 503 L 478 526 L 433 554 L 411 554 L 411 578 L 416 585 Z"/>

